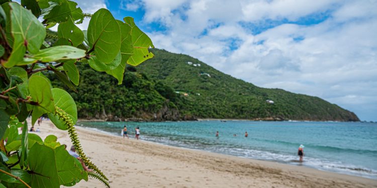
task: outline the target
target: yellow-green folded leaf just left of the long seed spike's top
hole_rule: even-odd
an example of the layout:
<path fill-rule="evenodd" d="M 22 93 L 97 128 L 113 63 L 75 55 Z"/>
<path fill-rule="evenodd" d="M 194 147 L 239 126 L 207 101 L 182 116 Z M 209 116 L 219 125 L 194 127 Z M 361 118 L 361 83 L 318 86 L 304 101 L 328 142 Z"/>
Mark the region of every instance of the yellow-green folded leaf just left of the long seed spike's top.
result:
<path fill-rule="evenodd" d="M 42 76 L 32 76 L 29 79 L 29 91 L 32 101 L 38 104 L 32 113 L 32 125 L 44 113 L 55 111 L 54 98 L 52 97 L 50 84 Z"/>

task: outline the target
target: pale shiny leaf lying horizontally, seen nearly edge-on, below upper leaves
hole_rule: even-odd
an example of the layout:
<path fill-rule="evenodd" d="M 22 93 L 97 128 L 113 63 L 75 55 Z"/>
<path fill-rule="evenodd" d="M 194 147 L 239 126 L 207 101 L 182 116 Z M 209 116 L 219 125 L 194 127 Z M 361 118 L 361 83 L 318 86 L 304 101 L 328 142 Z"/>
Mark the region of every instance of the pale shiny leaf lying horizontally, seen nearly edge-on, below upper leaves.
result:
<path fill-rule="evenodd" d="M 85 57 L 85 51 L 72 46 L 54 46 L 40 50 L 28 59 L 41 62 L 51 62 L 58 60 L 80 59 Z"/>

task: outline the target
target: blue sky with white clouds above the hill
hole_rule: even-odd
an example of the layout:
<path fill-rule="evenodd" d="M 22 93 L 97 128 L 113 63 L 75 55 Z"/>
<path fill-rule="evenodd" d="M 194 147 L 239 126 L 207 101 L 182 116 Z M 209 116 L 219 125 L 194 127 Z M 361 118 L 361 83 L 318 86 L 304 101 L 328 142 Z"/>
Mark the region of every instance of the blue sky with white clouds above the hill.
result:
<path fill-rule="evenodd" d="M 376 0 L 91 0 L 131 16 L 156 48 L 265 88 L 321 97 L 377 121 Z M 87 27 L 84 22 L 82 29 Z"/>

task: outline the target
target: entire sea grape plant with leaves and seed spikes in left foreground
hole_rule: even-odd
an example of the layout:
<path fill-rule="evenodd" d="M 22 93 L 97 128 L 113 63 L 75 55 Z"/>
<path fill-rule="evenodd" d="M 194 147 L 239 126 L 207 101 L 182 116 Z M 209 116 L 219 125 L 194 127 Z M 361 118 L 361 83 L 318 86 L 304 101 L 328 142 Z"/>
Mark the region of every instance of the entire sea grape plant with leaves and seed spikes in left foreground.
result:
<path fill-rule="evenodd" d="M 73 98 L 53 88 L 45 74 L 55 74 L 77 92 L 76 64 L 82 63 L 122 84 L 126 64 L 137 66 L 153 57 L 148 51 L 152 41 L 133 18 L 116 20 L 106 9 L 87 14 L 67 0 L 0 4 L 0 187 L 72 186 L 88 176 L 109 186 L 109 179 L 83 152 L 74 128 Z M 84 19 L 90 21 L 81 31 L 77 25 Z M 50 32 L 55 25 L 57 33 Z M 77 154 L 93 171 L 85 171 L 56 136 L 42 140 L 28 133 L 30 115 L 32 125 L 45 115 L 58 129 L 67 130 Z"/>

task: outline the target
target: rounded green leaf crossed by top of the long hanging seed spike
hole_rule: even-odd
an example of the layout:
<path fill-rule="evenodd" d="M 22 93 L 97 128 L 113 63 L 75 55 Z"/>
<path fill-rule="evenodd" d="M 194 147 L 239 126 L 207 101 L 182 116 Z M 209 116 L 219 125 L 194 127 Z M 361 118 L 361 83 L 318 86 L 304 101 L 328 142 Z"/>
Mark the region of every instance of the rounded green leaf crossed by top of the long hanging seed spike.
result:
<path fill-rule="evenodd" d="M 76 123 L 77 107 L 71 95 L 69 95 L 68 92 L 59 88 L 52 89 L 52 94 L 54 97 L 55 105 L 59 107 L 61 110 L 63 110 L 65 113 L 67 113 L 68 117 L 73 121 L 73 123 Z M 59 119 L 57 115 L 53 113 L 48 113 L 48 117 L 57 128 L 61 130 L 68 129 L 65 123 L 61 119 Z"/>

